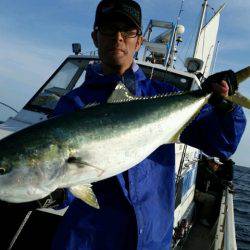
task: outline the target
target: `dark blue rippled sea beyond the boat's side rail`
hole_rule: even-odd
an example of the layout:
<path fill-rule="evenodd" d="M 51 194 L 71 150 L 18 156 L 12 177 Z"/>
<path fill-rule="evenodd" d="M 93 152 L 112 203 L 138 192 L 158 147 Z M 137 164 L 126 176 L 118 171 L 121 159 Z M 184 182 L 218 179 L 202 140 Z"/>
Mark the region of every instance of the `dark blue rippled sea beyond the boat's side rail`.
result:
<path fill-rule="evenodd" d="M 234 215 L 238 250 L 250 250 L 250 168 L 235 166 Z"/>

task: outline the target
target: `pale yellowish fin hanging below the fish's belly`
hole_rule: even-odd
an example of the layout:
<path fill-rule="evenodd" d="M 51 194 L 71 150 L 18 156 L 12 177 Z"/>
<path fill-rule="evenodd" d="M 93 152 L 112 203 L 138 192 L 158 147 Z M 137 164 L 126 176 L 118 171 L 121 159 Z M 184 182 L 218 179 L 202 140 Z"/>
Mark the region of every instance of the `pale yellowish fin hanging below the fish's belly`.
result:
<path fill-rule="evenodd" d="M 99 209 L 100 206 L 91 187 L 91 184 L 77 185 L 70 187 L 69 190 L 75 197 L 81 199 L 91 207 Z"/>

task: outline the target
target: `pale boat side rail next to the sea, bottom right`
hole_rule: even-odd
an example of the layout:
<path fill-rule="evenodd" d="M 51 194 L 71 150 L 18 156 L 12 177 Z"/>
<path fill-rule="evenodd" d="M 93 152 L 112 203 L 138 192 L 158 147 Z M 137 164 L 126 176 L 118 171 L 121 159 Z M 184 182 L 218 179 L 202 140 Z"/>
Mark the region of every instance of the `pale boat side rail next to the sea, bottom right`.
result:
<path fill-rule="evenodd" d="M 233 193 L 227 187 L 221 200 L 214 250 L 236 250 Z"/>

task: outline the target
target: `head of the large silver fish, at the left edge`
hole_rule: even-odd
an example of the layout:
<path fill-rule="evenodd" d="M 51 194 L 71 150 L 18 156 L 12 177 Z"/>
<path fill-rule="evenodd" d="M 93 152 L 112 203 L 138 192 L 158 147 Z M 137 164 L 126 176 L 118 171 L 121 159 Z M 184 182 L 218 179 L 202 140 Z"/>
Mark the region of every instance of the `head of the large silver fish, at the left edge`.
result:
<path fill-rule="evenodd" d="M 0 156 L 1 157 L 1 156 Z M 29 158 L 0 158 L 0 200 L 11 203 L 41 199 L 54 189 L 44 166 L 35 166 Z"/>

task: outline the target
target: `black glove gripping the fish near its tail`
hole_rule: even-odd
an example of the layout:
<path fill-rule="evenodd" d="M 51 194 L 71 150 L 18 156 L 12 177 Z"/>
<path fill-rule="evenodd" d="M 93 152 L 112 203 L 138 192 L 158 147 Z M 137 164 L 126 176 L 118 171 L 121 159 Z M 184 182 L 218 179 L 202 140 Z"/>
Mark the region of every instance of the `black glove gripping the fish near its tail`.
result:
<path fill-rule="evenodd" d="M 238 89 L 238 83 L 236 74 L 232 70 L 222 71 L 216 74 L 209 76 L 201 85 L 203 91 L 210 93 L 212 91 L 212 83 L 220 83 L 222 80 L 225 80 L 228 84 L 229 91 L 228 95 L 233 95 Z M 220 113 L 227 113 L 234 109 L 235 104 L 225 100 L 222 96 L 213 94 L 209 103 L 213 105 L 216 110 Z"/>

